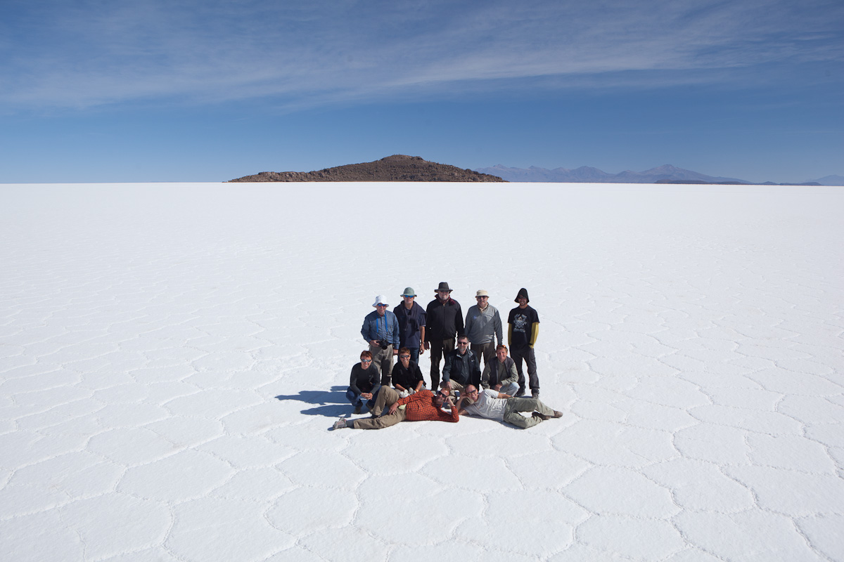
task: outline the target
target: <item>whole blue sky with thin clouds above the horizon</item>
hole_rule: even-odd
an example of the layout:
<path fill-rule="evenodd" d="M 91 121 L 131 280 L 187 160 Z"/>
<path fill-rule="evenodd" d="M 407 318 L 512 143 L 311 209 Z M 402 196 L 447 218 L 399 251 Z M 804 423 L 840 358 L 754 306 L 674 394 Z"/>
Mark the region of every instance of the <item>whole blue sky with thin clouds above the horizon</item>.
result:
<path fill-rule="evenodd" d="M 2 0 L 0 183 L 844 174 L 844 3 Z"/>

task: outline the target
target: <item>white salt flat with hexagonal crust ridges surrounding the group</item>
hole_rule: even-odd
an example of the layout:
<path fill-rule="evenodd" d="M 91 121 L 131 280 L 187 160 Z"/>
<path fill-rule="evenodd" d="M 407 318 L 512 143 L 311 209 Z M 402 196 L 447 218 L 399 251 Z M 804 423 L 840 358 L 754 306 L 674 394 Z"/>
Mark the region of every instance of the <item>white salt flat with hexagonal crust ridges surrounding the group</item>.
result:
<path fill-rule="evenodd" d="M 0 185 L 0 558 L 844 560 L 844 190 Z M 329 431 L 376 294 L 565 412 Z M 428 356 L 420 361 L 427 379 Z"/>

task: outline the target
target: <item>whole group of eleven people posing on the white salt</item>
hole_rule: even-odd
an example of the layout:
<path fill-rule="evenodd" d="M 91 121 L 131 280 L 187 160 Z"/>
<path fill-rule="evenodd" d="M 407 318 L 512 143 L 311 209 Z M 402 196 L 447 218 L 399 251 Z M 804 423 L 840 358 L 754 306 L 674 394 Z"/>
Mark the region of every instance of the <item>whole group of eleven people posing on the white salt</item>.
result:
<path fill-rule="evenodd" d="M 360 329 L 369 350 L 363 351 L 360 363 L 352 367 L 346 392 L 354 414 L 365 407 L 371 418 L 341 418 L 335 429 L 381 429 L 403 420 L 457 421 L 461 414 L 504 420 L 523 428 L 562 415 L 539 400 L 533 353 L 539 317 L 527 304 L 527 290 L 518 292 L 518 306 L 507 318 L 508 345 L 502 341 L 500 314 L 490 305 L 488 292 L 481 289 L 476 293 L 477 304 L 468 309 L 465 322 L 451 293 L 448 283 L 441 282 L 436 298 L 423 310 L 414 302 L 413 288 L 407 287 L 403 303 L 392 312 L 383 296 L 376 297 L 372 305 L 376 310 L 366 316 Z M 430 388 L 436 393 L 425 388 L 419 369 L 419 356 L 425 351 L 431 354 Z M 395 365 L 393 356 L 398 356 Z M 522 361 L 527 363 L 529 399 L 522 398 L 526 388 Z M 532 415 L 526 417 L 522 412 Z"/>

